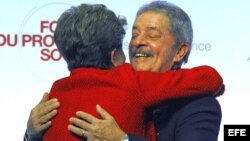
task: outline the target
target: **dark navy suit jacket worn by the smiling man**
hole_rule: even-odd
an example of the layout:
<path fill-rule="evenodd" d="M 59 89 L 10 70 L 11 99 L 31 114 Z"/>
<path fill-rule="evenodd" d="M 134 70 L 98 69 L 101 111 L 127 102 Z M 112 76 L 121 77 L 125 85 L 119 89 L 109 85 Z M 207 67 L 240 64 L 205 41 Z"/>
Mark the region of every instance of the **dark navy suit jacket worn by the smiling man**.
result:
<path fill-rule="evenodd" d="M 217 141 L 222 115 L 214 96 L 175 99 L 150 111 L 158 141 Z M 129 135 L 129 141 L 145 140 Z"/>

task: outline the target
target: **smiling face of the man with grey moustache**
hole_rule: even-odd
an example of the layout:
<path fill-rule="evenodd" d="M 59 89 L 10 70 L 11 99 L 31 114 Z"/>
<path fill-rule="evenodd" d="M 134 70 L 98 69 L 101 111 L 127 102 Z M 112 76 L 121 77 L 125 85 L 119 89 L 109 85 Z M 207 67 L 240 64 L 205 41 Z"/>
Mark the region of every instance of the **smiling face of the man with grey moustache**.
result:
<path fill-rule="evenodd" d="M 168 18 L 145 12 L 136 18 L 129 46 L 129 58 L 137 71 L 165 72 L 171 69 L 177 49 Z"/>

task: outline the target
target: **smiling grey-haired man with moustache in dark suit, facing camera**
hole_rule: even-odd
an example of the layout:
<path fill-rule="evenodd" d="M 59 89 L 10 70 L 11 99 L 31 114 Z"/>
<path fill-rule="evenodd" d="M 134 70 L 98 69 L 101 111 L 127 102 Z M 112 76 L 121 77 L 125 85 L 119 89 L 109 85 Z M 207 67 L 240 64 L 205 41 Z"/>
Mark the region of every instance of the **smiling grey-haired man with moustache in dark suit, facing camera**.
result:
<path fill-rule="evenodd" d="M 179 69 L 188 61 L 192 45 L 192 25 L 179 7 L 155 1 L 139 9 L 130 42 L 130 61 L 136 70 L 160 71 Z M 140 53 L 134 53 L 139 50 Z M 198 82 L 197 82 L 198 83 Z M 101 140 L 117 140 L 121 132 L 111 115 L 100 107 L 99 120 L 88 113 L 71 119 L 69 129 L 75 134 Z M 217 141 L 221 109 L 211 96 L 189 97 L 167 101 L 149 110 L 155 123 L 158 141 Z M 87 121 L 87 122 L 86 122 Z M 129 135 L 129 141 L 144 140 Z M 127 138 L 125 138 L 127 139 Z"/>

